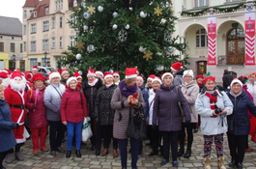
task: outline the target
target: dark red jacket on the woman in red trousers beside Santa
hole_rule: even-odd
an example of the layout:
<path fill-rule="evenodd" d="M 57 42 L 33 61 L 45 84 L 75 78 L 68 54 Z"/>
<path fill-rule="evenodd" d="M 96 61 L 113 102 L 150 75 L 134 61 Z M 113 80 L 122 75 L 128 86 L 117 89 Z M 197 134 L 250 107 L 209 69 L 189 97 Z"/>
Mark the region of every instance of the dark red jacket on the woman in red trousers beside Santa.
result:
<path fill-rule="evenodd" d="M 29 109 L 28 119 L 29 127 L 47 127 L 48 122 L 46 120 L 46 108 L 43 105 L 43 94 L 45 87 L 37 94 L 36 88 L 33 85 L 30 90 L 27 91 L 26 108 Z M 32 93 L 32 94 L 31 94 Z M 37 105 L 36 109 L 32 109 L 32 105 Z"/>

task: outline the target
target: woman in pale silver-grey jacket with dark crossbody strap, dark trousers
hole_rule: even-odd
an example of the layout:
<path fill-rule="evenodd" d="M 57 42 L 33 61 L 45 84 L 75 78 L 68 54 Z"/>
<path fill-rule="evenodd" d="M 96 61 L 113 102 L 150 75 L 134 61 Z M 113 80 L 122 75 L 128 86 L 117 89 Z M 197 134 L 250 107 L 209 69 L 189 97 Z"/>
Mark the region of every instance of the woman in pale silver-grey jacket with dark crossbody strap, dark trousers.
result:
<path fill-rule="evenodd" d="M 61 122 L 60 106 L 62 95 L 66 88 L 60 84 L 61 75 L 59 72 L 51 71 L 48 79 L 50 85 L 44 91 L 43 103 L 47 108 L 46 119 L 50 126 L 50 155 L 56 156 L 56 151 L 65 153 L 65 150 L 61 148 L 65 126 Z"/>

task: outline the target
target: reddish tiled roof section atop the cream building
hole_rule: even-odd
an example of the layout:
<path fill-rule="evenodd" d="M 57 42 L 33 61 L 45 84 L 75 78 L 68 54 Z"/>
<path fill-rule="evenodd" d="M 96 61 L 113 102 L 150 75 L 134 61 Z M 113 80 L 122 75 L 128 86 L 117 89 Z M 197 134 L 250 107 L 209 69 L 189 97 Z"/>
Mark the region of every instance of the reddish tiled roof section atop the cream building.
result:
<path fill-rule="evenodd" d="M 31 14 L 30 18 L 28 20 L 32 20 L 35 18 L 43 17 L 47 14 L 45 14 L 45 9 L 49 8 L 49 0 L 43 0 L 39 1 L 37 7 L 34 9 L 33 13 Z M 37 16 L 34 16 L 34 12 L 37 12 Z"/>

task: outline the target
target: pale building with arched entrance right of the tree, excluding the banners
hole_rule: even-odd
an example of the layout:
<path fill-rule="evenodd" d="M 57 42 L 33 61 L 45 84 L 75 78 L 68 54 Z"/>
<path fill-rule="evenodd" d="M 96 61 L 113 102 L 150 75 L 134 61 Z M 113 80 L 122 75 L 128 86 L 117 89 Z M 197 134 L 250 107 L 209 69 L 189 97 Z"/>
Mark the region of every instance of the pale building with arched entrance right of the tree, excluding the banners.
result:
<path fill-rule="evenodd" d="M 188 69 L 196 74 L 215 75 L 222 82 L 223 70 L 239 77 L 256 71 L 255 64 L 246 65 L 245 16 L 255 19 L 256 1 L 245 0 L 173 0 L 173 9 L 179 17 L 176 34 L 187 43 L 186 53 L 190 57 Z M 249 17 L 250 18 L 250 17 Z M 209 38 L 209 19 L 214 21 L 215 41 Z M 255 28 L 255 21 L 253 22 Z M 212 28 L 210 28 L 212 29 Z M 253 29 L 252 56 L 255 63 L 255 29 Z M 209 54 L 213 51 L 216 63 L 211 65 Z M 212 59 L 212 57 L 211 57 Z"/>

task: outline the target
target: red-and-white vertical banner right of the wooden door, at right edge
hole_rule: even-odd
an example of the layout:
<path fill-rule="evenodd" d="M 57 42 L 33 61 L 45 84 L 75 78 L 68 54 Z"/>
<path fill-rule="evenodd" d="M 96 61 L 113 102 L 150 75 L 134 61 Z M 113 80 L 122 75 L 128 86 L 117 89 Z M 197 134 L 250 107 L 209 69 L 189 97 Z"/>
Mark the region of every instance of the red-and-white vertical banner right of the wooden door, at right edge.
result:
<path fill-rule="evenodd" d="M 255 13 L 244 14 L 245 65 L 255 65 Z"/>

